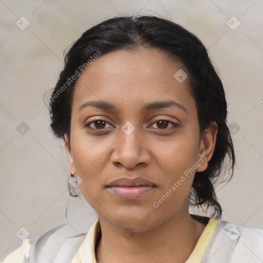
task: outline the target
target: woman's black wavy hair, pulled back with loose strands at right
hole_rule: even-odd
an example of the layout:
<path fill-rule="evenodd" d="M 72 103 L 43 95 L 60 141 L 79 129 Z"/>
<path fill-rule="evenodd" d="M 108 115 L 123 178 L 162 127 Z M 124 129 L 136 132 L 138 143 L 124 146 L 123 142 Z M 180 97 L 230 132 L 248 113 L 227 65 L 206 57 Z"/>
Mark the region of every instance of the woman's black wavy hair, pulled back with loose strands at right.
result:
<path fill-rule="evenodd" d="M 220 219 L 222 209 L 215 186 L 222 182 L 227 168 L 231 171 L 228 180 L 232 178 L 235 164 L 233 142 L 227 126 L 227 101 L 208 51 L 194 34 L 182 26 L 156 16 L 121 16 L 85 31 L 64 52 L 65 65 L 49 100 L 52 133 L 61 139 L 66 134 L 70 139 L 73 89 L 80 71 L 88 68 L 100 54 L 138 47 L 158 49 L 183 63 L 196 102 L 200 136 L 211 122 L 218 125 L 212 158 L 205 171 L 196 172 L 189 201 L 190 205 L 205 209 L 205 213 L 212 210 L 211 217 Z"/>

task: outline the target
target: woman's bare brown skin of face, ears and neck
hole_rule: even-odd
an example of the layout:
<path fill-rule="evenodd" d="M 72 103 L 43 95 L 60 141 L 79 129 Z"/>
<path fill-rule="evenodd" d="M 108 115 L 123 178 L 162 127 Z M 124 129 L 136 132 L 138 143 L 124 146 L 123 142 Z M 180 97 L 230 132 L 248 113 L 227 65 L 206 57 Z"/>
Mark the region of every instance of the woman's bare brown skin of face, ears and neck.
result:
<path fill-rule="evenodd" d="M 153 206 L 202 156 L 206 160 L 196 171 L 204 171 L 215 147 L 217 124 L 211 123 L 199 137 L 189 81 L 180 83 L 174 78 L 179 69 L 187 72 L 156 49 L 118 50 L 102 54 L 76 82 L 66 152 L 70 171 L 82 179 L 81 192 L 100 220 L 102 238 L 96 260 L 102 263 L 124 258 L 126 263 L 184 262 L 206 226 L 189 214 L 188 195 L 195 173 L 185 177 L 158 208 Z M 92 100 L 114 104 L 118 110 L 93 106 L 79 110 Z M 187 113 L 176 106 L 141 111 L 146 103 L 165 100 L 180 103 Z M 94 118 L 106 123 L 84 127 Z M 168 123 L 157 124 L 159 119 Z M 130 135 L 121 129 L 127 121 L 135 127 Z M 170 121 L 179 126 L 173 128 Z M 123 200 L 105 187 L 120 177 L 143 177 L 157 187 L 140 199 Z M 127 228 L 130 238 L 125 237 Z"/>

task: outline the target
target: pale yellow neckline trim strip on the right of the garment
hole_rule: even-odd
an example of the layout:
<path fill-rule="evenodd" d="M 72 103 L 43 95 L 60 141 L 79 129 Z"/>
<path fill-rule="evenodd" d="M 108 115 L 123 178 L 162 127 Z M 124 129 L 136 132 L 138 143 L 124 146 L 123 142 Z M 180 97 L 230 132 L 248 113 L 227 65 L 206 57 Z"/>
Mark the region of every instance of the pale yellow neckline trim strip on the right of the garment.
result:
<path fill-rule="evenodd" d="M 197 241 L 195 249 L 193 250 L 190 257 L 185 261 L 185 263 L 200 263 L 203 257 L 204 251 L 208 246 L 208 243 L 214 233 L 217 220 L 210 218 L 208 224 L 206 225 L 202 235 Z"/>

